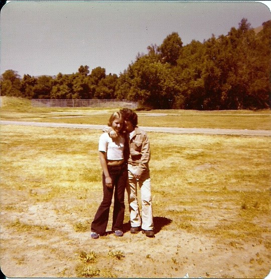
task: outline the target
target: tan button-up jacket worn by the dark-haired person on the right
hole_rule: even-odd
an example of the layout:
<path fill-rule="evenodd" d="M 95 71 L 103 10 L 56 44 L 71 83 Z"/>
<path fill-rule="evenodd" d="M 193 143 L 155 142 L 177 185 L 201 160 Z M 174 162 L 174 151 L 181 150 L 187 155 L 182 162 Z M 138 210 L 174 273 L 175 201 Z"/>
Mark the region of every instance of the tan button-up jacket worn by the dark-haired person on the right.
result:
<path fill-rule="evenodd" d="M 150 141 L 147 133 L 139 127 L 135 127 L 134 135 L 129 140 L 130 156 L 128 164 L 139 166 L 142 170 L 149 170 L 151 158 Z"/>

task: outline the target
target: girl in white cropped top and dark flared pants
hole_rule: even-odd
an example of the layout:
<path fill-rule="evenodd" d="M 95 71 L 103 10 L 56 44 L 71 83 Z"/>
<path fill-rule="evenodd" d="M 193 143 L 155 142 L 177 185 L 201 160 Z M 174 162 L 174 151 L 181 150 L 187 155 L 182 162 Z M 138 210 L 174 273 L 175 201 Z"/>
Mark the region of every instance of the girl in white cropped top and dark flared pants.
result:
<path fill-rule="evenodd" d="M 123 118 L 119 112 L 114 112 L 108 121 L 116 133 L 116 138 L 110 138 L 104 132 L 99 139 L 99 158 L 102 167 L 103 200 L 91 223 L 91 237 L 104 235 L 108 223 L 109 210 L 114 193 L 114 208 L 112 231 L 116 236 L 122 236 L 124 219 L 124 192 L 127 183 L 127 158 L 125 155 L 125 137 L 122 134 Z"/>

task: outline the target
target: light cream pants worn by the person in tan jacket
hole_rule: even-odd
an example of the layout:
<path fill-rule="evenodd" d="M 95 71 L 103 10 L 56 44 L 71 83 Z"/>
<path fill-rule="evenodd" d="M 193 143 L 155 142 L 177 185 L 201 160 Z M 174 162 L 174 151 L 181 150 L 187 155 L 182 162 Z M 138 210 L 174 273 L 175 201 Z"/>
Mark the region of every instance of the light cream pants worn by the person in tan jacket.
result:
<path fill-rule="evenodd" d="M 147 170 L 143 172 L 140 179 L 135 179 L 132 173 L 134 173 L 136 169 L 137 166 L 128 164 L 128 184 L 126 190 L 128 193 L 131 226 L 141 226 L 144 230 L 152 230 L 154 228 L 154 223 L 150 171 Z M 141 191 L 142 214 L 140 214 L 137 195 L 138 186 Z"/>

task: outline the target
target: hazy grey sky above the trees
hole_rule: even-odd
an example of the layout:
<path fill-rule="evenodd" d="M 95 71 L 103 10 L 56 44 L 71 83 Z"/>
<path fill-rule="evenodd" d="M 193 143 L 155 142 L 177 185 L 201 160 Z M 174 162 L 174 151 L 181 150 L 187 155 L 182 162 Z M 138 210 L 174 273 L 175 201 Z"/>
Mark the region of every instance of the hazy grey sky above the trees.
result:
<path fill-rule="evenodd" d="M 9 1 L 0 17 L 0 72 L 72 74 L 87 65 L 123 73 L 177 32 L 183 46 L 227 35 L 243 18 L 271 20 L 269 1 Z"/>

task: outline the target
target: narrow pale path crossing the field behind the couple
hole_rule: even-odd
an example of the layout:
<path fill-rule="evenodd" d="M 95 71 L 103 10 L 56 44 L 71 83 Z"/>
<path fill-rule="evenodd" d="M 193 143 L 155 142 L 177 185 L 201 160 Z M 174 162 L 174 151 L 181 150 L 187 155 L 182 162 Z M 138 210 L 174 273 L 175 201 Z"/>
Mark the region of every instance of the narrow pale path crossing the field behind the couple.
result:
<path fill-rule="evenodd" d="M 28 122 L 28 121 L 6 121 L 1 120 L 0 124 L 5 125 L 26 125 L 39 127 L 60 127 L 60 128 L 78 128 L 78 129 L 96 129 L 101 130 L 104 125 L 90 124 L 68 124 L 68 123 L 50 123 L 50 122 Z M 164 132 L 174 134 L 209 134 L 209 135 L 243 135 L 243 136 L 271 136 L 271 130 L 241 130 L 241 129 L 210 129 L 210 128 L 176 128 L 176 127 L 147 127 L 147 132 Z"/>

